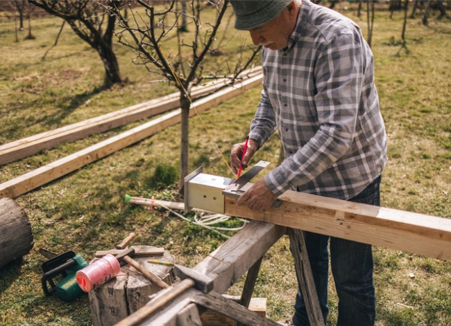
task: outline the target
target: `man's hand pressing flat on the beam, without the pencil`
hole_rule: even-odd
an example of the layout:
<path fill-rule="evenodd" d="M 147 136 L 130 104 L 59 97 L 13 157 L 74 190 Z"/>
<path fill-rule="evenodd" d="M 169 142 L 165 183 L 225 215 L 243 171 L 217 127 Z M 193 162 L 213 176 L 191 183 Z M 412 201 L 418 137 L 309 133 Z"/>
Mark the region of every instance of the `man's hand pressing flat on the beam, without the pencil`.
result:
<path fill-rule="evenodd" d="M 241 194 L 237 201 L 237 205 L 246 205 L 252 210 L 267 210 L 270 208 L 277 196 L 269 190 L 264 179 L 259 179 L 244 194 Z"/>

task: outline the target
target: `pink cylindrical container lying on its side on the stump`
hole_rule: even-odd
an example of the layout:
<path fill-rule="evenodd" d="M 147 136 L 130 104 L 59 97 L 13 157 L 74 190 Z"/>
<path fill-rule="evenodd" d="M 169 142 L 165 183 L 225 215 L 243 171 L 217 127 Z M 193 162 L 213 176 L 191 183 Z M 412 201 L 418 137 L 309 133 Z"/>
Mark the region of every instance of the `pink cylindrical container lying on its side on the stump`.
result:
<path fill-rule="evenodd" d="M 121 271 L 119 261 L 113 255 L 105 255 L 92 262 L 75 274 L 80 288 L 89 292 L 108 280 L 116 277 Z"/>

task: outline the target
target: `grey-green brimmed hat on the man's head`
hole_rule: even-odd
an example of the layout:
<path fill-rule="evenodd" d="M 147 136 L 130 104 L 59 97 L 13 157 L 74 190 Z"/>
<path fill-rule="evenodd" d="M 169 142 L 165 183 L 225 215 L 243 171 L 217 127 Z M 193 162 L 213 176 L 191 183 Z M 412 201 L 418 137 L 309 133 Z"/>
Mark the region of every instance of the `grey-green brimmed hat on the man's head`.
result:
<path fill-rule="evenodd" d="M 230 0 L 235 12 L 235 28 L 252 30 L 273 20 L 293 0 Z"/>

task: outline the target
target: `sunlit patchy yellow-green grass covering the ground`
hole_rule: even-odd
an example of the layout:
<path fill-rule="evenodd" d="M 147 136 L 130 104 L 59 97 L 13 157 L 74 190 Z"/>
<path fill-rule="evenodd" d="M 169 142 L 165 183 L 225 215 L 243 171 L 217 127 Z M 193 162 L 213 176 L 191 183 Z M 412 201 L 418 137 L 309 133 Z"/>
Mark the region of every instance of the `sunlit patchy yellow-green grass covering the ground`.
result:
<path fill-rule="evenodd" d="M 366 31 L 363 18 L 359 21 L 352 10 L 344 13 Z M 173 91 L 167 83 L 151 82 L 159 77 L 133 65 L 133 54 L 121 46 L 117 46 L 121 73 L 129 82 L 103 89 L 99 57 L 67 26 L 58 46 L 42 61 L 61 22 L 43 17 L 32 24 L 36 39 L 25 40 L 23 33 L 15 43 L 14 22 L 0 21 L 0 144 Z M 400 40 L 402 14 L 395 13 L 392 20 L 389 12 L 376 15 L 376 83 L 389 136 L 382 206 L 450 218 L 451 22 L 429 19 L 429 24 L 426 28 L 418 20 L 409 21 L 407 54 L 393 45 Z M 239 44 L 241 40 L 236 38 Z M 220 62 L 223 57 L 216 59 Z M 190 170 L 203 165 L 205 173 L 232 177 L 213 143 L 228 157 L 231 145 L 246 136 L 258 98 L 256 87 L 202 114 L 213 139 L 200 120 L 192 118 Z M 3 165 L 0 182 L 135 125 L 139 123 Z M 16 199 L 31 220 L 35 246 L 22 260 L 1 269 L 1 325 L 90 325 L 87 296 L 69 303 L 44 296 L 40 285 L 44 257 L 38 248 L 57 253 L 74 250 L 90 260 L 95 251 L 113 248 L 134 231 L 135 244 L 163 246 L 178 263 L 194 266 L 225 240 L 166 210 L 149 211 L 124 201 L 125 194 L 178 200 L 174 180 L 178 179 L 179 137 L 179 126 L 169 127 Z M 264 159 L 275 166 L 280 155 L 280 141 L 275 136 L 255 160 Z M 449 262 L 382 247 L 374 248 L 374 257 L 377 325 L 451 324 Z M 287 237 L 264 256 L 254 295 L 268 299 L 268 316 L 273 320 L 292 313 L 296 278 L 291 262 Z M 239 294 L 242 283 L 234 285 L 230 294 Z M 338 302 L 332 279 L 329 304 L 330 323 L 335 325 Z"/>

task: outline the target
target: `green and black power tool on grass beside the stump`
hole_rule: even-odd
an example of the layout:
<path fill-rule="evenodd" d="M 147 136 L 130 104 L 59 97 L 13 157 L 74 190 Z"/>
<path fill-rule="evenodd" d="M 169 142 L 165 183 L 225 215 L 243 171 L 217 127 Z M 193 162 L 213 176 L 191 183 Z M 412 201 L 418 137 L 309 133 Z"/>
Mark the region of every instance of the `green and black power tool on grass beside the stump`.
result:
<path fill-rule="evenodd" d="M 49 260 L 42 263 L 42 271 L 44 271 L 44 275 L 42 275 L 42 289 L 45 295 L 51 296 L 52 293 L 56 293 L 58 298 L 65 301 L 71 301 L 81 296 L 83 290 L 78 286 L 75 274 L 78 270 L 88 265 L 83 260 L 83 257 L 76 255 L 74 251 L 67 251 L 58 255 L 40 248 L 39 252 L 44 257 L 49 258 Z M 57 277 L 62 278 L 62 280 L 55 284 L 53 280 Z"/>

